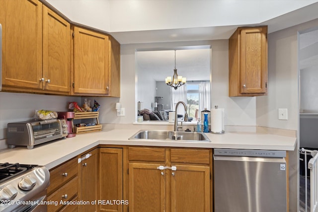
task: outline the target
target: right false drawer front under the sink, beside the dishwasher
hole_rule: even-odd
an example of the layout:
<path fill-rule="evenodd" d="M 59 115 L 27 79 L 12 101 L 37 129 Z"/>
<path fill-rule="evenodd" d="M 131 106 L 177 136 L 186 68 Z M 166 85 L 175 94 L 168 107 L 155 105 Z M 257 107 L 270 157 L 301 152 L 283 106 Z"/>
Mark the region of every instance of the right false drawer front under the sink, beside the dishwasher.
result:
<path fill-rule="evenodd" d="M 210 150 L 171 148 L 171 162 L 210 164 Z"/>

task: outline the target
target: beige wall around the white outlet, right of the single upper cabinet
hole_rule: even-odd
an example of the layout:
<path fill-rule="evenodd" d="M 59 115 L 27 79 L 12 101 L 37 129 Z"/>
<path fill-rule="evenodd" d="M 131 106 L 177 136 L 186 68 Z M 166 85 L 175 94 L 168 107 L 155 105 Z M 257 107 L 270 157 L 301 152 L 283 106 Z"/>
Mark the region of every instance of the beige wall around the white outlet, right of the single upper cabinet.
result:
<path fill-rule="evenodd" d="M 298 31 L 318 26 L 318 19 L 268 34 L 268 95 L 256 98 L 256 124 L 298 130 Z M 278 108 L 288 120 L 278 120 Z"/>

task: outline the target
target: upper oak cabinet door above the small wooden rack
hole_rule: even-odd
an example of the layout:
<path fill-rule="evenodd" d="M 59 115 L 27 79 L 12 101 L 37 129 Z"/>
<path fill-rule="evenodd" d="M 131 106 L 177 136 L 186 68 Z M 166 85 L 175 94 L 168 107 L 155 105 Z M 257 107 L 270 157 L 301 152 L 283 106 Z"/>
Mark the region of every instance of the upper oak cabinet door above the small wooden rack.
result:
<path fill-rule="evenodd" d="M 108 94 L 108 36 L 74 27 L 74 93 Z"/>

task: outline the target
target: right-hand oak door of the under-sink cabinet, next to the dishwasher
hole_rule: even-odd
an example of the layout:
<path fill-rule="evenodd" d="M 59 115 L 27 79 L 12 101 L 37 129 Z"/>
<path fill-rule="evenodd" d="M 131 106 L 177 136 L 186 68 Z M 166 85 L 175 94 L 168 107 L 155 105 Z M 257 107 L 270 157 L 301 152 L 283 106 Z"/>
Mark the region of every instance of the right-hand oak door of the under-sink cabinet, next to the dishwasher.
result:
<path fill-rule="evenodd" d="M 210 212 L 210 167 L 176 167 L 171 171 L 171 212 Z"/>

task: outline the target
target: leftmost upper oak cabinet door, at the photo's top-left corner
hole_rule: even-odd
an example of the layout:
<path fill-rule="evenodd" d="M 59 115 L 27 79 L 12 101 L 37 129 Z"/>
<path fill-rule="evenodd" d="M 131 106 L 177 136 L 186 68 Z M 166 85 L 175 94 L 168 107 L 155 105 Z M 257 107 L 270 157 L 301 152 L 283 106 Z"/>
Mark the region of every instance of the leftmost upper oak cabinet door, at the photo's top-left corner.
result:
<path fill-rule="evenodd" d="M 1 0 L 2 85 L 42 88 L 42 3 Z M 4 15 L 3 15 L 4 14 Z"/>

